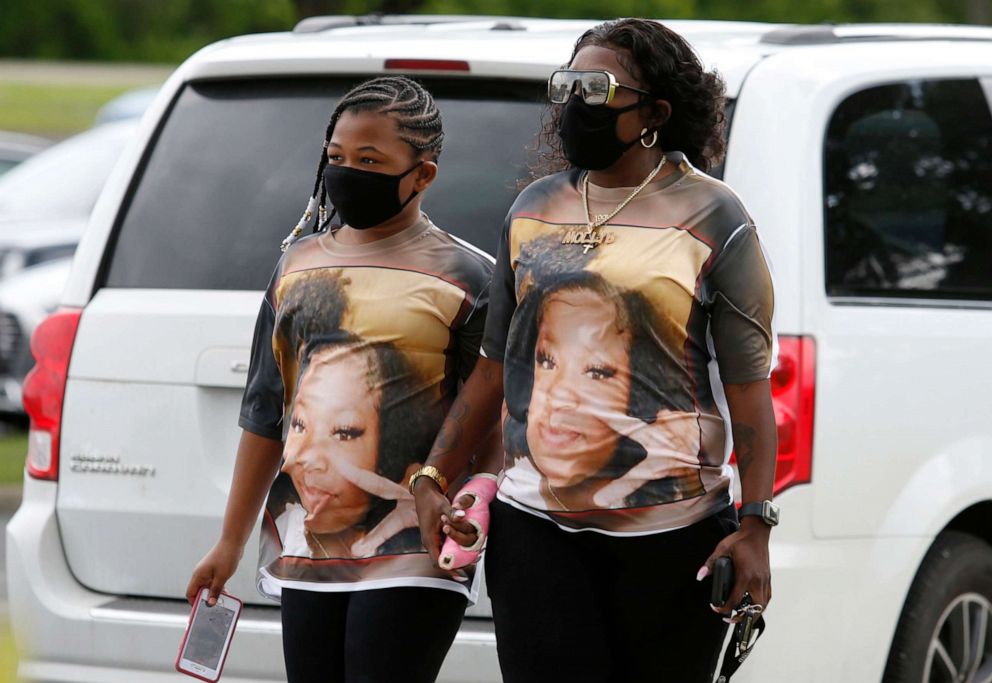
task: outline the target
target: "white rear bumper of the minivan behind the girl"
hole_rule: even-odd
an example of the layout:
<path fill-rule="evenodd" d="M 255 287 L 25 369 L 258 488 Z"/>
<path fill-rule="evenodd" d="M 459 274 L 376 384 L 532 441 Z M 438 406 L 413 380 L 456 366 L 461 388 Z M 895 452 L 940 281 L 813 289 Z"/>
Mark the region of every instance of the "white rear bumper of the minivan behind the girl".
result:
<path fill-rule="evenodd" d="M 189 607 L 179 600 L 87 590 L 65 561 L 55 514 L 58 485 L 27 479 L 21 507 L 7 527 L 10 619 L 19 676 L 46 683 L 175 682 Z M 248 607 L 224 668 L 228 683 L 284 681 L 276 607 Z M 488 619 L 466 619 L 439 681 L 500 680 Z"/>

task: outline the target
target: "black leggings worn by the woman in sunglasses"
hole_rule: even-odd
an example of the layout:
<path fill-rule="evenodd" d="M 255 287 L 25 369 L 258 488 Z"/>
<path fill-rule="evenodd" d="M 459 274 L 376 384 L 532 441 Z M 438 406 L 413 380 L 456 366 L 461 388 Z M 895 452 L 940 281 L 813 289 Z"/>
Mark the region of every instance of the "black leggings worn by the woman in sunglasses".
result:
<path fill-rule="evenodd" d="M 504 683 L 713 680 L 727 625 L 696 572 L 733 507 L 650 536 L 563 531 L 494 501 L 486 549 Z"/>

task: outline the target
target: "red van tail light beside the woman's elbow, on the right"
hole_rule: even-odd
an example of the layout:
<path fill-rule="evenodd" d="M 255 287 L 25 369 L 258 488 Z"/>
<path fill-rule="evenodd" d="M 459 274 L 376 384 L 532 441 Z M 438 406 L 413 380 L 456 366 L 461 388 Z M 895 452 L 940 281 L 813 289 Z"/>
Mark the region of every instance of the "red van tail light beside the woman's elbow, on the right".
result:
<path fill-rule="evenodd" d="M 778 365 L 771 376 L 778 426 L 775 495 L 808 484 L 813 474 L 813 405 L 816 342 L 812 337 L 779 336 Z M 731 462 L 736 464 L 736 457 Z"/>

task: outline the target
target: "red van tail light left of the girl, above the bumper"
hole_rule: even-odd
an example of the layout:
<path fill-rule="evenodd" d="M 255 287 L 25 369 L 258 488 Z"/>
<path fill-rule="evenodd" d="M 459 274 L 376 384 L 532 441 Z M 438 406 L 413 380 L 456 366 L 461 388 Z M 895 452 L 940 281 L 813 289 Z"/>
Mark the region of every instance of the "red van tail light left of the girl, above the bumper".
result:
<path fill-rule="evenodd" d="M 78 308 L 60 309 L 45 318 L 31 335 L 35 365 L 24 378 L 22 395 L 24 410 L 31 418 L 27 471 L 35 479 L 59 478 L 62 400 L 82 313 Z"/>

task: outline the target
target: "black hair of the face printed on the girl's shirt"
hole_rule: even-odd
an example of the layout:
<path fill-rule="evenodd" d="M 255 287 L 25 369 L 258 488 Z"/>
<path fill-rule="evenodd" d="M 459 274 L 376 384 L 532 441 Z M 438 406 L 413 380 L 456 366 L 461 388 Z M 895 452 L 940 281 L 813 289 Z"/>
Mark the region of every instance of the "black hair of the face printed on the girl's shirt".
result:
<path fill-rule="evenodd" d="M 348 310 L 344 289 L 348 282 L 323 268 L 295 274 L 281 292 L 276 343 L 292 354 L 297 367 L 294 385 L 302 381 L 313 355 L 323 349 L 349 346 L 352 353 L 369 355 L 369 387 L 380 392 L 376 472 L 402 484 L 407 467 L 426 460 L 441 426 L 442 409 L 418 400 L 421 382 L 394 344 L 367 342 L 342 327 Z M 284 364 L 288 356 L 283 357 Z M 396 501 L 373 496 L 363 526 L 372 529 L 395 507 Z"/>

